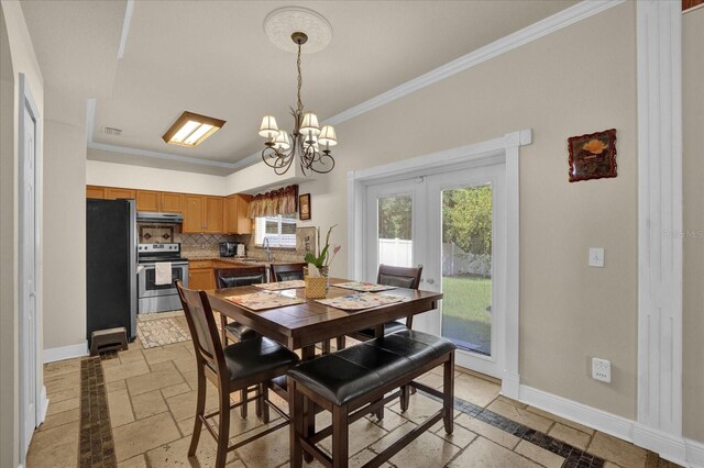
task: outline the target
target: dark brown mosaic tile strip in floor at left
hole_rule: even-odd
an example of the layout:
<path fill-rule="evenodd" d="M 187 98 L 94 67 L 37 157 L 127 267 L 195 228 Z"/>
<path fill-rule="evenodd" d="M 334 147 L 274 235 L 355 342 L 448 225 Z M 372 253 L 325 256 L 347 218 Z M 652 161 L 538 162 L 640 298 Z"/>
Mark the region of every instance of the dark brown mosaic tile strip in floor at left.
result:
<path fill-rule="evenodd" d="M 118 466 L 100 357 L 89 357 L 80 363 L 78 459 L 80 468 Z"/>

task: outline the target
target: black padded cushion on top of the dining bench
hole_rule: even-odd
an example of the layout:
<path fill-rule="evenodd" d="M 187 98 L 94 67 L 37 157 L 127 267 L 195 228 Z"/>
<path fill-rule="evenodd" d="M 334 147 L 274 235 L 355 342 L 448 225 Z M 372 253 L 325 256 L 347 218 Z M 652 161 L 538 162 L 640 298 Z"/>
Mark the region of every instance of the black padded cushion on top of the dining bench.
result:
<path fill-rule="evenodd" d="M 448 339 L 406 330 L 302 363 L 288 376 L 342 405 L 454 349 Z"/>

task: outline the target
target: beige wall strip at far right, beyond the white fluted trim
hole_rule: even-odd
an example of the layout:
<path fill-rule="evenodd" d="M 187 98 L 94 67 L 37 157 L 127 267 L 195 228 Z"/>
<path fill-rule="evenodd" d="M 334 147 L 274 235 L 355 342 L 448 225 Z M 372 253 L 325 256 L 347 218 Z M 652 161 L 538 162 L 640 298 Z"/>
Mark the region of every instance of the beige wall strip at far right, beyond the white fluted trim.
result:
<path fill-rule="evenodd" d="M 704 443 L 704 9 L 684 14 L 684 363 L 683 433 Z"/>

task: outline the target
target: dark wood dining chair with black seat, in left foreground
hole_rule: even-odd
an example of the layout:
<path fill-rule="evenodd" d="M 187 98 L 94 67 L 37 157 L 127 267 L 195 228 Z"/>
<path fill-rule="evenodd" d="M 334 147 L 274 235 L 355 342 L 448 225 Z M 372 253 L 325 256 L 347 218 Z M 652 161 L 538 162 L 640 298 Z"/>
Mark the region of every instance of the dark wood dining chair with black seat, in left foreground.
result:
<path fill-rule="evenodd" d="M 268 399 L 268 382 L 286 375 L 298 364 L 299 358 L 295 353 L 263 336 L 223 347 L 218 337 L 218 328 L 206 292 L 186 289 L 180 281 L 176 282 L 176 287 L 196 349 L 198 375 L 196 421 L 188 456 L 196 454 L 200 432 L 205 425 L 218 444 L 216 467 L 221 468 L 224 467 L 228 452 L 288 425 L 288 415 Z M 206 379 L 217 387 L 219 394 L 219 410 L 211 414 L 205 414 Z M 246 406 L 251 400 L 246 393 L 248 388 L 254 388 L 256 393 L 254 399 L 261 405 L 264 423 L 270 421 L 270 406 L 284 419 L 284 422 L 229 445 L 230 411 L 237 406 Z M 231 404 L 230 394 L 242 390 L 245 391 L 245 398 Z M 213 416 L 218 416 L 218 427 L 208 421 Z"/>

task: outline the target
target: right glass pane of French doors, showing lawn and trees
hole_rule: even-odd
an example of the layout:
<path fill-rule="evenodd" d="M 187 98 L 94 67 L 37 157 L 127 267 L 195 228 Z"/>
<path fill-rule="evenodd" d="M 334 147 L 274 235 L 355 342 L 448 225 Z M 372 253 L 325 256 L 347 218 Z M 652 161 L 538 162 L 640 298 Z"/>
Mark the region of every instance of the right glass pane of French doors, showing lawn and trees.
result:
<path fill-rule="evenodd" d="M 442 192 L 442 336 L 492 354 L 492 186 Z"/>

